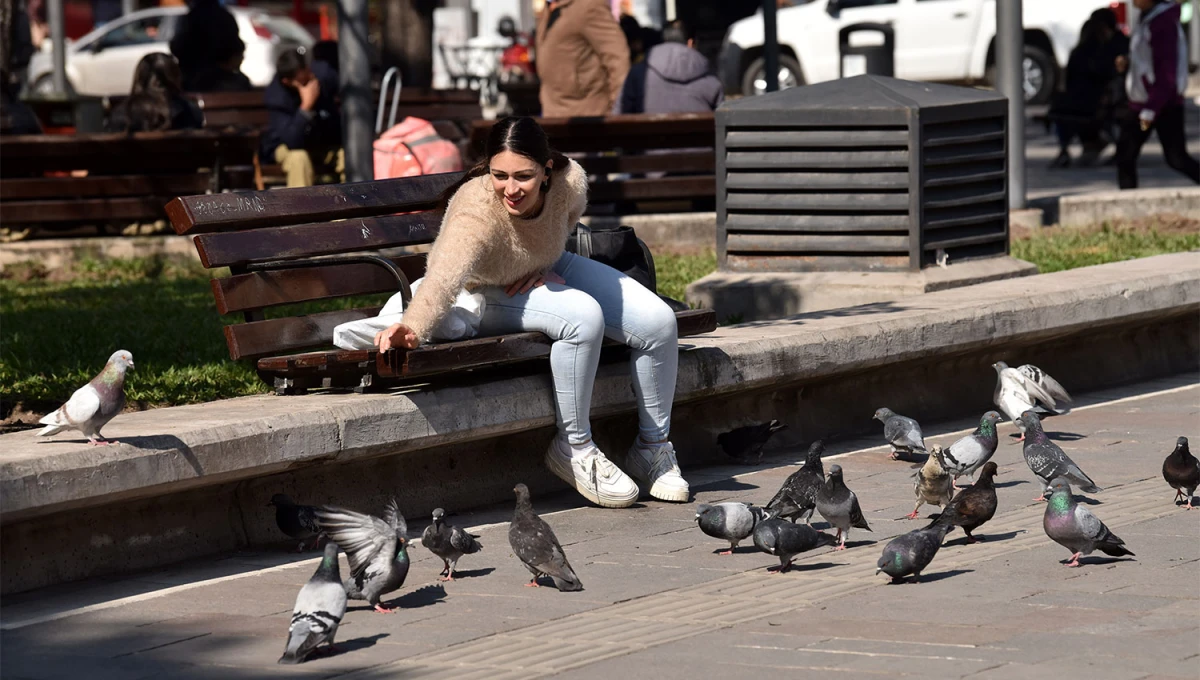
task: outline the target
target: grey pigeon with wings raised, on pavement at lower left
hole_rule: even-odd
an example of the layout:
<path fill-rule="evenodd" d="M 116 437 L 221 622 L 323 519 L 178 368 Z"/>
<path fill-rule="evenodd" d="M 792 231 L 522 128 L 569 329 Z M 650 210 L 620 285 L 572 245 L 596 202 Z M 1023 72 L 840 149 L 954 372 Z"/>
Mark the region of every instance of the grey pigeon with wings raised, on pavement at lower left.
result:
<path fill-rule="evenodd" d="M 316 512 L 322 530 L 342 546 L 350 562 L 346 595 L 350 600 L 366 600 L 380 614 L 396 612 L 379 603 L 382 596 L 403 585 L 408 576 L 408 525 L 396 499 L 388 501 L 383 519 L 341 507 L 318 507 Z"/>

